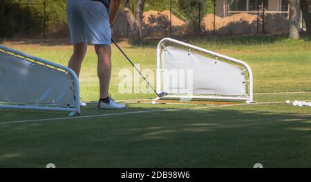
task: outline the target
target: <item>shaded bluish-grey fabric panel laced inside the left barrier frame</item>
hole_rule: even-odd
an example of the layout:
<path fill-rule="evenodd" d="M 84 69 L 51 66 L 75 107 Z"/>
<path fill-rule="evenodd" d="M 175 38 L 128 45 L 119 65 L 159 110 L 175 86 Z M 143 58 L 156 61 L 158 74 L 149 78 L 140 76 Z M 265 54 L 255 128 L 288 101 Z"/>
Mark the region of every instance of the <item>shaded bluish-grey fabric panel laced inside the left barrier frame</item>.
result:
<path fill-rule="evenodd" d="M 0 102 L 77 107 L 75 81 L 67 71 L 0 49 Z"/>

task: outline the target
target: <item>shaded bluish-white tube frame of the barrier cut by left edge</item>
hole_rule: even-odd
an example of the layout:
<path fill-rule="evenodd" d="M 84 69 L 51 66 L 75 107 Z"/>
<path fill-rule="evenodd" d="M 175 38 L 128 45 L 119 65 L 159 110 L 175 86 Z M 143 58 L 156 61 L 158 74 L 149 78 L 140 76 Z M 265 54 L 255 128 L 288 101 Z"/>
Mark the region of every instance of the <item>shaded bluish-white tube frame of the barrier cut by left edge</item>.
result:
<path fill-rule="evenodd" d="M 64 71 L 66 71 L 68 73 L 68 75 L 70 75 L 72 77 L 72 79 L 75 82 L 75 104 L 76 106 L 71 108 L 71 107 L 57 107 L 57 105 L 55 105 L 55 107 L 44 107 L 44 106 L 36 106 L 34 105 L 21 105 L 21 104 L 12 104 L 12 105 L 8 105 L 8 104 L 0 104 L 0 109 L 31 109 L 31 110 L 46 110 L 46 111 L 69 111 L 70 112 L 70 116 L 75 115 L 75 113 L 77 114 L 81 114 L 81 107 L 80 107 L 80 91 L 79 91 L 79 78 L 77 77 L 77 74 L 75 73 L 75 71 L 73 71 L 72 69 L 66 67 L 66 66 L 62 66 L 60 64 L 56 64 L 53 62 L 48 62 L 46 60 L 43 60 L 39 57 L 34 57 L 32 55 L 28 55 L 26 53 L 21 53 L 19 51 L 16 51 L 12 48 L 8 48 L 6 46 L 1 46 L 0 45 L 0 49 L 2 49 L 4 52 L 8 52 L 11 53 L 12 55 L 19 55 L 22 57 L 26 57 L 30 60 L 34 60 L 35 62 L 40 62 L 42 64 L 46 64 L 48 66 L 53 66 L 57 69 L 62 69 Z"/>

